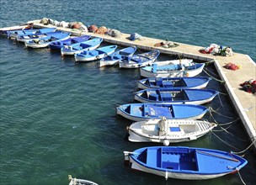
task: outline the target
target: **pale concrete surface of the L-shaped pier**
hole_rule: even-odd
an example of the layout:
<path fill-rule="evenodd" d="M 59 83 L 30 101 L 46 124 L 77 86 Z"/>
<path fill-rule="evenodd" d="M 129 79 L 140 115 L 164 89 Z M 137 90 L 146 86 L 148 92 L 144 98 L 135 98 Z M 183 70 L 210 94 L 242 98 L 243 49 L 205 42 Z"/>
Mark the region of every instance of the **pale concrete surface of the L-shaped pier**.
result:
<path fill-rule="evenodd" d="M 53 25 L 40 24 L 40 20 L 29 21 L 33 23 L 35 27 L 53 27 Z M 209 54 L 201 54 L 200 49 L 202 46 L 186 45 L 182 43 L 178 47 L 163 48 L 155 47 L 154 45 L 164 40 L 157 40 L 153 38 L 143 37 L 143 40 L 131 41 L 128 38 L 130 34 L 122 33 L 119 38 L 111 37 L 106 34 L 93 34 L 90 32 L 82 32 L 77 29 L 67 29 L 57 27 L 62 31 L 71 32 L 72 35 L 88 34 L 93 37 L 102 37 L 104 42 L 108 42 L 115 45 L 131 46 L 136 45 L 141 50 L 160 50 L 162 54 L 183 56 L 185 58 L 191 58 L 199 61 L 214 61 L 216 71 L 218 71 L 221 81 L 224 81 L 224 86 L 227 89 L 227 93 L 231 98 L 234 108 L 236 108 L 237 114 L 243 122 L 243 126 L 248 133 L 250 140 L 256 140 L 256 96 L 239 89 L 239 84 L 250 79 L 256 79 L 256 63 L 248 56 L 244 54 L 234 53 L 233 56 L 211 56 Z M 242 67 L 237 71 L 232 71 L 224 68 L 227 63 L 232 62 Z M 256 143 L 254 142 L 254 149 L 256 149 Z"/>

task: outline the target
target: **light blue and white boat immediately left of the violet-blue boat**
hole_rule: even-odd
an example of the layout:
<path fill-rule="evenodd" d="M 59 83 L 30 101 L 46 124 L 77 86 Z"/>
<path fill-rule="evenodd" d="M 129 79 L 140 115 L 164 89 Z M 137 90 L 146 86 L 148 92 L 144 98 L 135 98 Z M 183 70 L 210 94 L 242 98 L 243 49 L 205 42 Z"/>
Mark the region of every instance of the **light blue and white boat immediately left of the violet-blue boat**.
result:
<path fill-rule="evenodd" d="M 48 45 L 50 45 L 51 42 L 57 41 L 57 40 L 66 40 L 67 38 L 69 38 L 69 36 L 70 36 L 70 33 L 61 32 L 53 36 L 47 36 L 47 37 L 43 37 L 36 40 L 29 40 L 25 42 L 25 46 L 29 48 L 45 48 Z"/>

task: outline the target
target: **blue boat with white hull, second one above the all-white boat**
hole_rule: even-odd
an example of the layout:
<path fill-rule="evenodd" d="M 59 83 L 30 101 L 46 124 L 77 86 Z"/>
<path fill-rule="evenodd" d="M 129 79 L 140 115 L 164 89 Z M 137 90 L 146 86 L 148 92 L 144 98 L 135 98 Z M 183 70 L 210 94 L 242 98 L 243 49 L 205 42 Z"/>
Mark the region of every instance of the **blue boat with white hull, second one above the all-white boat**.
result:
<path fill-rule="evenodd" d="M 141 103 L 209 103 L 219 92 L 211 89 L 148 88 L 135 92 L 135 100 Z"/>

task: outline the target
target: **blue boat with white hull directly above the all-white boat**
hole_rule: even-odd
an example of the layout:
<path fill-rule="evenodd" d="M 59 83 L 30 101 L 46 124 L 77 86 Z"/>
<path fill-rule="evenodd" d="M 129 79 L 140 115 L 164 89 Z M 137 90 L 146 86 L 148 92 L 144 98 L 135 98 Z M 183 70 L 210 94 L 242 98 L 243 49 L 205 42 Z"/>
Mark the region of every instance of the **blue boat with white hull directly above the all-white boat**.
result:
<path fill-rule="evenodd" d="M 192 104 L 127 103 L 116 108 L 116 114 L 132 121 L 149 119 L 201 119 L 208 108 Z"/>

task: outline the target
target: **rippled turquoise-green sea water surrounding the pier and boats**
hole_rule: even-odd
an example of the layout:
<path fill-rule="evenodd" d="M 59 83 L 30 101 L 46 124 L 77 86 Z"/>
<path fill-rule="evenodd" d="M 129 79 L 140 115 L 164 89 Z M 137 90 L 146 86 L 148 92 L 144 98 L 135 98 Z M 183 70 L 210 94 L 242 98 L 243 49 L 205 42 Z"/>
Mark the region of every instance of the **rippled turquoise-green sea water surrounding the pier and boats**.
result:
<path fill-rule="evenodd" d="M 43 17 L 81 21 L 192 45 L 231 45 L 255 61 L 254 13 L 254 1 L 14 0 L 1 2 L 0 27 Z M 125 127 L 131 122 L 115 114 L 117 105 L 133 102 L 138 70 L 99 69 L 96 62 L 76 64 L 72 57 L 61 58 L 47 49 L 27 50 L 6 38 L 0 43 L 0 184 L 67 184 L 69 174 L 99 184 L 241 184 L 238 174 L 207 181 L 165 181 L 123 165 L 123 151 L 156 145 L 125 140 Z M 215 73 L 212 66 L 206 69 Z M 211 81 L 208 87 L 224 94 L 207 106 L 232 117 L 213 114 L 216 121 L 237 119 L 221 84 Z M 212 121 L 209 114 L 205 119 Z M 232 135 L 214 133 L 229 145 L 215 135 L 176 145 L 243 151 L 250 144 L 241 121 L 227 130 Z M 255 156 L 248 151 L 244 157 L 248 165 L 240 173 L 253 184 Z"/>

